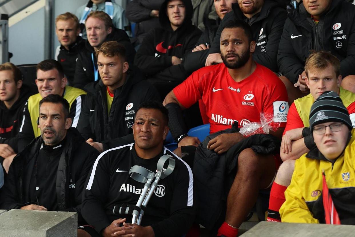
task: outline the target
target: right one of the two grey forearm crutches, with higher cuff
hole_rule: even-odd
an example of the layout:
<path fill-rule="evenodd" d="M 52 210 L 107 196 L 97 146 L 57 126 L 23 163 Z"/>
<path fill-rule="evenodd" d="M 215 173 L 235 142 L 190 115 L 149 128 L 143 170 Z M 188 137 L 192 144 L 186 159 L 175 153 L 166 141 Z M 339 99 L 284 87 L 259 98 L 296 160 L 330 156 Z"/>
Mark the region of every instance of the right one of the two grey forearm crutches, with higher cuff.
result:
<path fill-rule="evenodd" d="M 166 167 L 166 169 L 164 169 L 166 162 L 169 162 L 168 167 Z M 154 181 L 151 185 L 151 188 L 149 189 L 149 191 L 146 195 L 146 198 L 144 198 L 143 203 L 141 205 L 141 210 L 139 212 L 137 225 L 140 225 L 142 222 L 144 210 L 147 208 L 147 204 L 148 204 L 149 200 L 151 199 L 151 197 L 154 193 L 154 190 L 158 185 L 159 180 L 164 179 L 167 176 L 169 176 L 169 174 L 171 174 L 174 171 L 174 168 L 175 168 L 175 160 L 172 158 L 172 156 L 163 155 L 162 157 L 159 158 L 158 164 L 157 164 L 157 173 L 155 174 L 155 178 L 154 178 Z"/>

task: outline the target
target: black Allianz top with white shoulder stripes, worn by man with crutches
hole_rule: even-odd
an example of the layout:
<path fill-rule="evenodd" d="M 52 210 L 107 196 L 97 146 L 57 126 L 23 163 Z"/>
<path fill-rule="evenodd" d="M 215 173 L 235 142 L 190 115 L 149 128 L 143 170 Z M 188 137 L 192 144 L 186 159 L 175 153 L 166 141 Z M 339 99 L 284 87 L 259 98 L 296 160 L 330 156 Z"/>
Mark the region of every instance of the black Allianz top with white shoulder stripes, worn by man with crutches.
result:
<path fill-rule="evenodd" d="M 105 151 L 95 161 L 82 203 L 82 214 L 89 225 L 100 233 L 113 220 L 127 218 L 130 223 L 132 215 L 113 214 L 114 206 L 135 206 L 144 187 L 144 183 L 130 178 L 129 170 L 139 165 L 155 173 L 164 154 L 173 156 L 176 165 L 173 173 L 158 182 L 141 225 L 151 226 L 156 237 L 180 237 L 186 233 L 195 219 L 191 168 L 165 147 L 154 158 L 142 159 L 137 156 L 134 144 Z"/>

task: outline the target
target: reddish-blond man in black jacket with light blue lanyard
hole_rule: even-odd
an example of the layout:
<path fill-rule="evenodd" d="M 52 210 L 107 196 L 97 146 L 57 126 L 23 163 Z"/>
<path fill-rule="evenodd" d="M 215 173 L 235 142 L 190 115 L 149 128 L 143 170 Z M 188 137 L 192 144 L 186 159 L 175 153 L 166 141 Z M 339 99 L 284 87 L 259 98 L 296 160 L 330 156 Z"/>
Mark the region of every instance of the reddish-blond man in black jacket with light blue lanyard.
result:
<path fill-rule="evenodd" d="M 105 12 L 90 12 L 86 18 L 85 27 L 87 41 L 79 51 L 74 76 L 74 86 L 78 88 L 84 88 L 88 83 L 100 80 L 95 52 L 102 43 L 106 41 L 121 43 L 125 48 L 128 63 L 133 63 L 136 53 L 126 32 L 113 27 L 110 16 Z"/>

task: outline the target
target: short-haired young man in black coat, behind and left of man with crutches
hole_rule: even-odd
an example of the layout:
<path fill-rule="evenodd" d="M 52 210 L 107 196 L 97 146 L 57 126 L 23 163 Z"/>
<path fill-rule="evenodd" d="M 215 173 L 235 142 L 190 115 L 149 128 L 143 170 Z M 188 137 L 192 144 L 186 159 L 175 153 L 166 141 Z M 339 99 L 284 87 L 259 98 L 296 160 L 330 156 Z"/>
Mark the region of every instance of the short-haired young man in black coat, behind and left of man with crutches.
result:
<path fill-rule="evenodd" d="M 101 80 L 85 87 L 88 95 L 77 126 L 89 141 L 101 142 L 132 133 L 138 105 L 158 100 L 158 92 L 142 80 L 137 69 L 130 68 L 125 55 L 125 47 L 116 41 L 103 43 L 95 53 Z"/>

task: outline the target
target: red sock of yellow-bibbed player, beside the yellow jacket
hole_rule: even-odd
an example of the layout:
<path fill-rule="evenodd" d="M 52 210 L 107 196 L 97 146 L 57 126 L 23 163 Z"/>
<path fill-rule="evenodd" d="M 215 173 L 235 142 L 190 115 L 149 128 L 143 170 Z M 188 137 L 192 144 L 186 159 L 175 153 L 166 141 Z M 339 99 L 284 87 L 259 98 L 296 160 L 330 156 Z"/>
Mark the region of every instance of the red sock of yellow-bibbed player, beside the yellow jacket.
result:
<path fill-rule="evenodd" d="M 273 182 L 270 191 L 269 210 L 266 221 L 281 222 L 280 207 L 285 202 L 285 191 L 287 186 Z"/>

